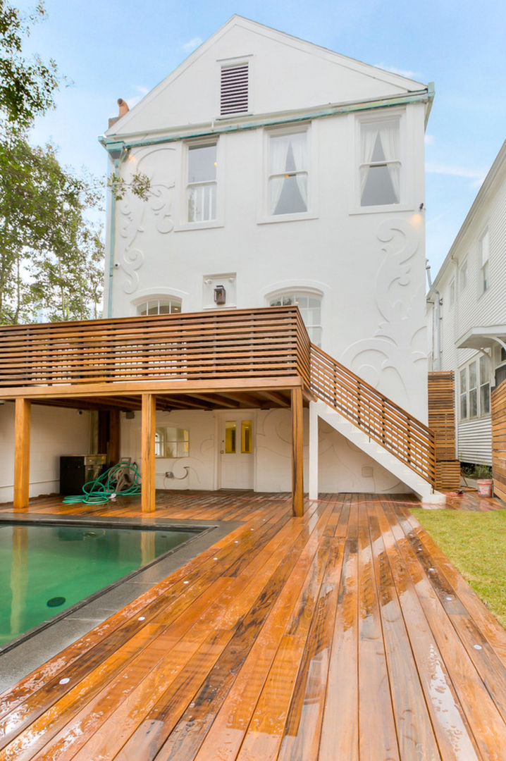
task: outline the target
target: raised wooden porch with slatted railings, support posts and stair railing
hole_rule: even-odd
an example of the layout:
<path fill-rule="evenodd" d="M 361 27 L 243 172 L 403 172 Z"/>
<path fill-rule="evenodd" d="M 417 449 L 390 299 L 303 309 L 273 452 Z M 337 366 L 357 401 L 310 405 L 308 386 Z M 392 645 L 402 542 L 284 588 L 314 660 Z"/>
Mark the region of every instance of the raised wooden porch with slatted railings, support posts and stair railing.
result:
<path fill-rule="evenodd" d="M 30 405 L 142 411 L 142 509 L 154 510 L 157 409 L 290 407 L 292 509 L 304 509 L 302 413 L 323 400 L 434 485 L 434 435 L 310 343 L 298 307 L 0 326 L 0 397 L 16 404 L 14 505 L 28 505 Z"/>

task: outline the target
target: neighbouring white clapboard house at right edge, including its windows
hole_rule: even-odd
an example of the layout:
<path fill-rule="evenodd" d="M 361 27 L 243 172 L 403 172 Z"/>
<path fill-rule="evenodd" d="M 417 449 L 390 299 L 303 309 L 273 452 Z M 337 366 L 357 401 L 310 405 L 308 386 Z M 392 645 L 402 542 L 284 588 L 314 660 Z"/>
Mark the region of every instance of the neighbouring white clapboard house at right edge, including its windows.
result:
<path fill-rule="evenodd" d="M 430 369 L 455 372 L 457 458 L 491 465 L 490 392 L 506 378 L 506 142 L 427 303 Z"/>

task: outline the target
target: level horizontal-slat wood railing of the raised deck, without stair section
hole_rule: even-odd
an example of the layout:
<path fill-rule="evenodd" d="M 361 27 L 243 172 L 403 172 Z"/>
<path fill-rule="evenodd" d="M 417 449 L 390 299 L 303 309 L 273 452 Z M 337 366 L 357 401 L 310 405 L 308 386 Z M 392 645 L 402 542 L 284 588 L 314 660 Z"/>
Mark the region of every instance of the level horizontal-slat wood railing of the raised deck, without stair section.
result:
<path fill-rule="evenodd" d="M 0 326 L 0 387 L 301 376 L 298 307 Z"/>

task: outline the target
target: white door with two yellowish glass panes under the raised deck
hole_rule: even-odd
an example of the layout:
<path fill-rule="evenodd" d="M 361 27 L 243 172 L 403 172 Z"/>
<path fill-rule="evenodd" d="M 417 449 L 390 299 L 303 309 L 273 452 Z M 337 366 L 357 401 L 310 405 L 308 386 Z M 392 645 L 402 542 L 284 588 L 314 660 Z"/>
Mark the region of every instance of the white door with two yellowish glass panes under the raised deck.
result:
<path fill-rule="evenodd" d="M 228 412 L 221 419 L 221 489 L 253 489 L 253 414 Z"/>

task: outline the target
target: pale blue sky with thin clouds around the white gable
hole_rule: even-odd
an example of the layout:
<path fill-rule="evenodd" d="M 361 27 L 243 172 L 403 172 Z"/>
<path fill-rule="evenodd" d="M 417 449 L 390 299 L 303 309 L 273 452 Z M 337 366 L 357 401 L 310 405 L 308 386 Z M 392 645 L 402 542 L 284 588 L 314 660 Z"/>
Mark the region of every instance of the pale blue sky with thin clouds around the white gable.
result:
<path fill-rule="evenodd" d="M 11 0 L 19 8 L 33 2 Z M 232 14 L 419 81 L 434 81 L 426 136 L 427 255 L 433 276 L 506 137 L 506 3 L 499 0 L 301 2 L 46 0 L 29 47 L 53 57 L 72 85 L 37 121 L 64 164 L 103 174 L 97 135 Z"/>

